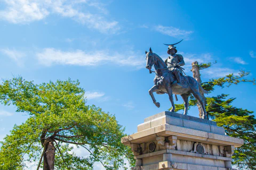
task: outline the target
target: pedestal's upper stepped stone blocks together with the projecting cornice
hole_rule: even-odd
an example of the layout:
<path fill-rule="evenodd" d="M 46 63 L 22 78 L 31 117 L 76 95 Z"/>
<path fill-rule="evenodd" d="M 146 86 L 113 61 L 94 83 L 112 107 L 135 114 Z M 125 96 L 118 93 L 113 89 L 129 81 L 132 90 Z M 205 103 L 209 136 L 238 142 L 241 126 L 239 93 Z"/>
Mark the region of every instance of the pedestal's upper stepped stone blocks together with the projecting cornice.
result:
<path fill-rule="evenodd" d="M 156 140 L 156 137 L 177 136 L 179 140 L 203 142 L 217 146 L 241 147 L 243 139 L 225 135 L 225 130 L 216 122 L 202 120 L 198 117 L 181 115 L 173 112 L 162 112 L 145 118 L 138 125 L 138 132 L 122 138 L 124 145 L 145 143 Z"/>

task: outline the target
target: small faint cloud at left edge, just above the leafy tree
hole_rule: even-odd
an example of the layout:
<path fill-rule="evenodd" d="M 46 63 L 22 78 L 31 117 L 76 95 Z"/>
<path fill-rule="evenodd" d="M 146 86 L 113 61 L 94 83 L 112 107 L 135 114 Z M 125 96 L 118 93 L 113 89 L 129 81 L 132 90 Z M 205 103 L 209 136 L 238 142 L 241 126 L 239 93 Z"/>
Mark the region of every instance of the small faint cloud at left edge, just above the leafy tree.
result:
<path fill-rule="evenodd" d="M 0 52 L 9 58 L 11 58 L 13 61 L 15 61 L 18 65 L 23 65 L 23 57 L 26 56 L 25 53 L 19 52 L 15 49 L 11 50 L 9 48 L 0 49 Z"/>

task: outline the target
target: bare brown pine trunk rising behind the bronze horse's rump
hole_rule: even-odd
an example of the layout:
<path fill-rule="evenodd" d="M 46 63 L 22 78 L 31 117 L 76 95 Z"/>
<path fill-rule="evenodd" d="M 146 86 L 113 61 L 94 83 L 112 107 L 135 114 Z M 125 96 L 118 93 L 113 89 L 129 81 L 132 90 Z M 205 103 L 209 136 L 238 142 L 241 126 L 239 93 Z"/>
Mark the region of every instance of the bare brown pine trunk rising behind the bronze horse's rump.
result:
<path fill-rule="evenodd" d="M 197 61 L 192 63 L 192 70 L 191 71 L 193 72 L 194 79 L 196 79 L 196 81 L 199 83 L 199 86 L 202 86 L 202 80 L 201 80 L 201 77 L 200 77 L 200 71 L 199 71 L 199 66 L 198 66 Z M 199 93 L 202 96 L 203 100 L 205 101 L 204 93 L 202 91 L 199 91 Z M 198 107 L 199 117 L 202 118 L 203 115 L 204 115 L 203 107 L 201 106 L 201 104 L 198 101 L 197 101 L 196 105 Z M 207 119 L 209 119 L 208 116 L 207 116 Z"/>

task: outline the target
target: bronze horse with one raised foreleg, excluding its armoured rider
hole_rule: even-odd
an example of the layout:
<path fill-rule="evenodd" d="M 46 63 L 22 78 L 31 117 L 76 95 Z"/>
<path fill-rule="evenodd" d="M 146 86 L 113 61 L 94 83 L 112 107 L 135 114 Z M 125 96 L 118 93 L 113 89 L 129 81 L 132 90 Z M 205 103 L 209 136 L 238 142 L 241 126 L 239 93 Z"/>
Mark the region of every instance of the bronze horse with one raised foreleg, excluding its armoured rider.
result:
<path fill-rule="evenodd" d="M 175 77 L 173 73 L 167 68 L 165 62 L 162 60 L 161 57 L 159 57 L 157 54 L 153 53 L 151 47 L 149 49 L 149 52 L 145 51 L 146 53 L 146 68 L 149 70 L 151 73 L 151 68 L 154 65 L 155 67 L 155 79 L 154 79 L 154 86 L 148 91 L 149 95 L 151 96 L 153 103 L 157 106 L 160 107 L 160 104 L 156 102 L 156 99 L 154 97 L 153 92 L 156 92 L 157 94 L 168 94 L 169 99 L 172 104 L 171 112 L 175 112 L 175 105 L 173 102 L 173 94 L 175 95 L 181 95 L 182 99 L 184 100 L 184 115 L 188 114 L 188 97 L 190 94 L 193 94 L 193 96 L 199 101 L 199 103 L 203 107 L 203 117 L 202 118 L 207 118 L 207 112 L 205 110 L 205 100 L 202 98 L 201 94 L 199 93 L 199 90 L 202 91 L 203 93 L 207 93 L 200 84 L 190 76 L 181 76 L 181 84 L 182 87 L 177 87 L 175 86 Z"/>

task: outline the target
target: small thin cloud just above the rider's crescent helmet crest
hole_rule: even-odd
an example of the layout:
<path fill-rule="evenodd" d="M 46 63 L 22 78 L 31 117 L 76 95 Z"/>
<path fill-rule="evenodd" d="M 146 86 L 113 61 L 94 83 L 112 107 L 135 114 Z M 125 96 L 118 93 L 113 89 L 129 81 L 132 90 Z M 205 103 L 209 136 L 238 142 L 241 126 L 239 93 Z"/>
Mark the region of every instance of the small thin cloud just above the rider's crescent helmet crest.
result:
<path fill-rule="evenodd" d="M 157 25 L 154 29 L 164 35 L 174 37 L 174 38 L 188 38 L 194 31 L 181 30 L 175 27 L 165 27 L 163 25 Z"/>

